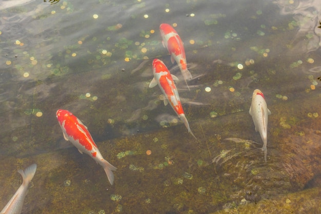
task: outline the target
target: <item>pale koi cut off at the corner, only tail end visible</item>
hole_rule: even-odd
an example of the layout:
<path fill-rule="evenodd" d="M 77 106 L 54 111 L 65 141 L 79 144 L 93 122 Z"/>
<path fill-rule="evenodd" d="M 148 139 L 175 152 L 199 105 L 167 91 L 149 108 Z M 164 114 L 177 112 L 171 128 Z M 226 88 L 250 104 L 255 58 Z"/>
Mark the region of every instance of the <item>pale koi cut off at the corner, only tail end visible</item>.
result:
<path fill-rule="evenodd" d="M 0 214 L 20 214 L 25 197 L 28 193 L 28 186 L 36 172 L 37 165 L 31 164 L 25 170 L 19 169 L 23 182 L 18 190 L 14 193 L 8 204 L 1 210 Z"/>

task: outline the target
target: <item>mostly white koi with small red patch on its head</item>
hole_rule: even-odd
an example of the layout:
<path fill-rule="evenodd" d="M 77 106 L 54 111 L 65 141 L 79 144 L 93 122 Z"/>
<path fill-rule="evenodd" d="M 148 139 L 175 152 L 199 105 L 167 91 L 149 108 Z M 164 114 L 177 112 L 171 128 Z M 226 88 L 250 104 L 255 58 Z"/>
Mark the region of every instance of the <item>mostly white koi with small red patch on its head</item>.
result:
<path fill-rule="evenodd" d="M 250 115 L 255 126 L 255 131 L 259 132 L 263 141 L 262 151 L 264 151 L 264 160 L 267 161 L 267 141 L 268 141 L 268 115 L 271 111 L 265 102 L 262 91 L 255 89 L 252 95 L 252 104 L 249 110 Z"/>

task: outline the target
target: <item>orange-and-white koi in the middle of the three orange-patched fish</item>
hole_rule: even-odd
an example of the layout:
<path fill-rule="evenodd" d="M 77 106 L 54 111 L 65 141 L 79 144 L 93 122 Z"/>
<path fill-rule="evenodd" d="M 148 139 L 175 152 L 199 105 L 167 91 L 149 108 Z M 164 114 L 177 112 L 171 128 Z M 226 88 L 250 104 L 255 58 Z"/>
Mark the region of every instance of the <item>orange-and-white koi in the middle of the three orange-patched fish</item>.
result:
<path fill-rule="evenodd" d="M 168 102 L 171 104 L 171 107 L 174 109 L 180 120 L 182 120 L 188 132 L 196 139 L 186 119 L 182 104 L 180 103 L 178 91 L 174 83 L 174 80 L 178 81 L 178 78 L 173 74 L 170 74 L 163 61 L 158 59 L 153 61 L 153 74 L 154 77 L 150 82 L 149 87 L 152 88 L 158 84 L 160 90 L 162 90 L 163 94 L 166 96 L 166 99 L 164 99 L 165 106 Z"/>

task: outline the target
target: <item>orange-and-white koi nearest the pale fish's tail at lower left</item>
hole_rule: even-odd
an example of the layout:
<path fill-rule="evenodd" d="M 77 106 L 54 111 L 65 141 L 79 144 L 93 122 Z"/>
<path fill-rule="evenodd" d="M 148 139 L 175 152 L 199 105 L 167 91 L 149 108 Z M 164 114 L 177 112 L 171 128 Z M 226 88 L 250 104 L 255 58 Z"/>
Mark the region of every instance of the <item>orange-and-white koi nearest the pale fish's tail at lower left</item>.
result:
<path fill-rule="evenodd" d="M 109 183 L 113 185 L 114 174 L 112 171 L 115 171 L 117 168 L 103 158 L 87 127 L 68 110 L 59 109 L 56 116 L 63 130 L 65 140 L 70 141 L 80 153 L 85 152 L 101 165 L 107 174 Z"/>

